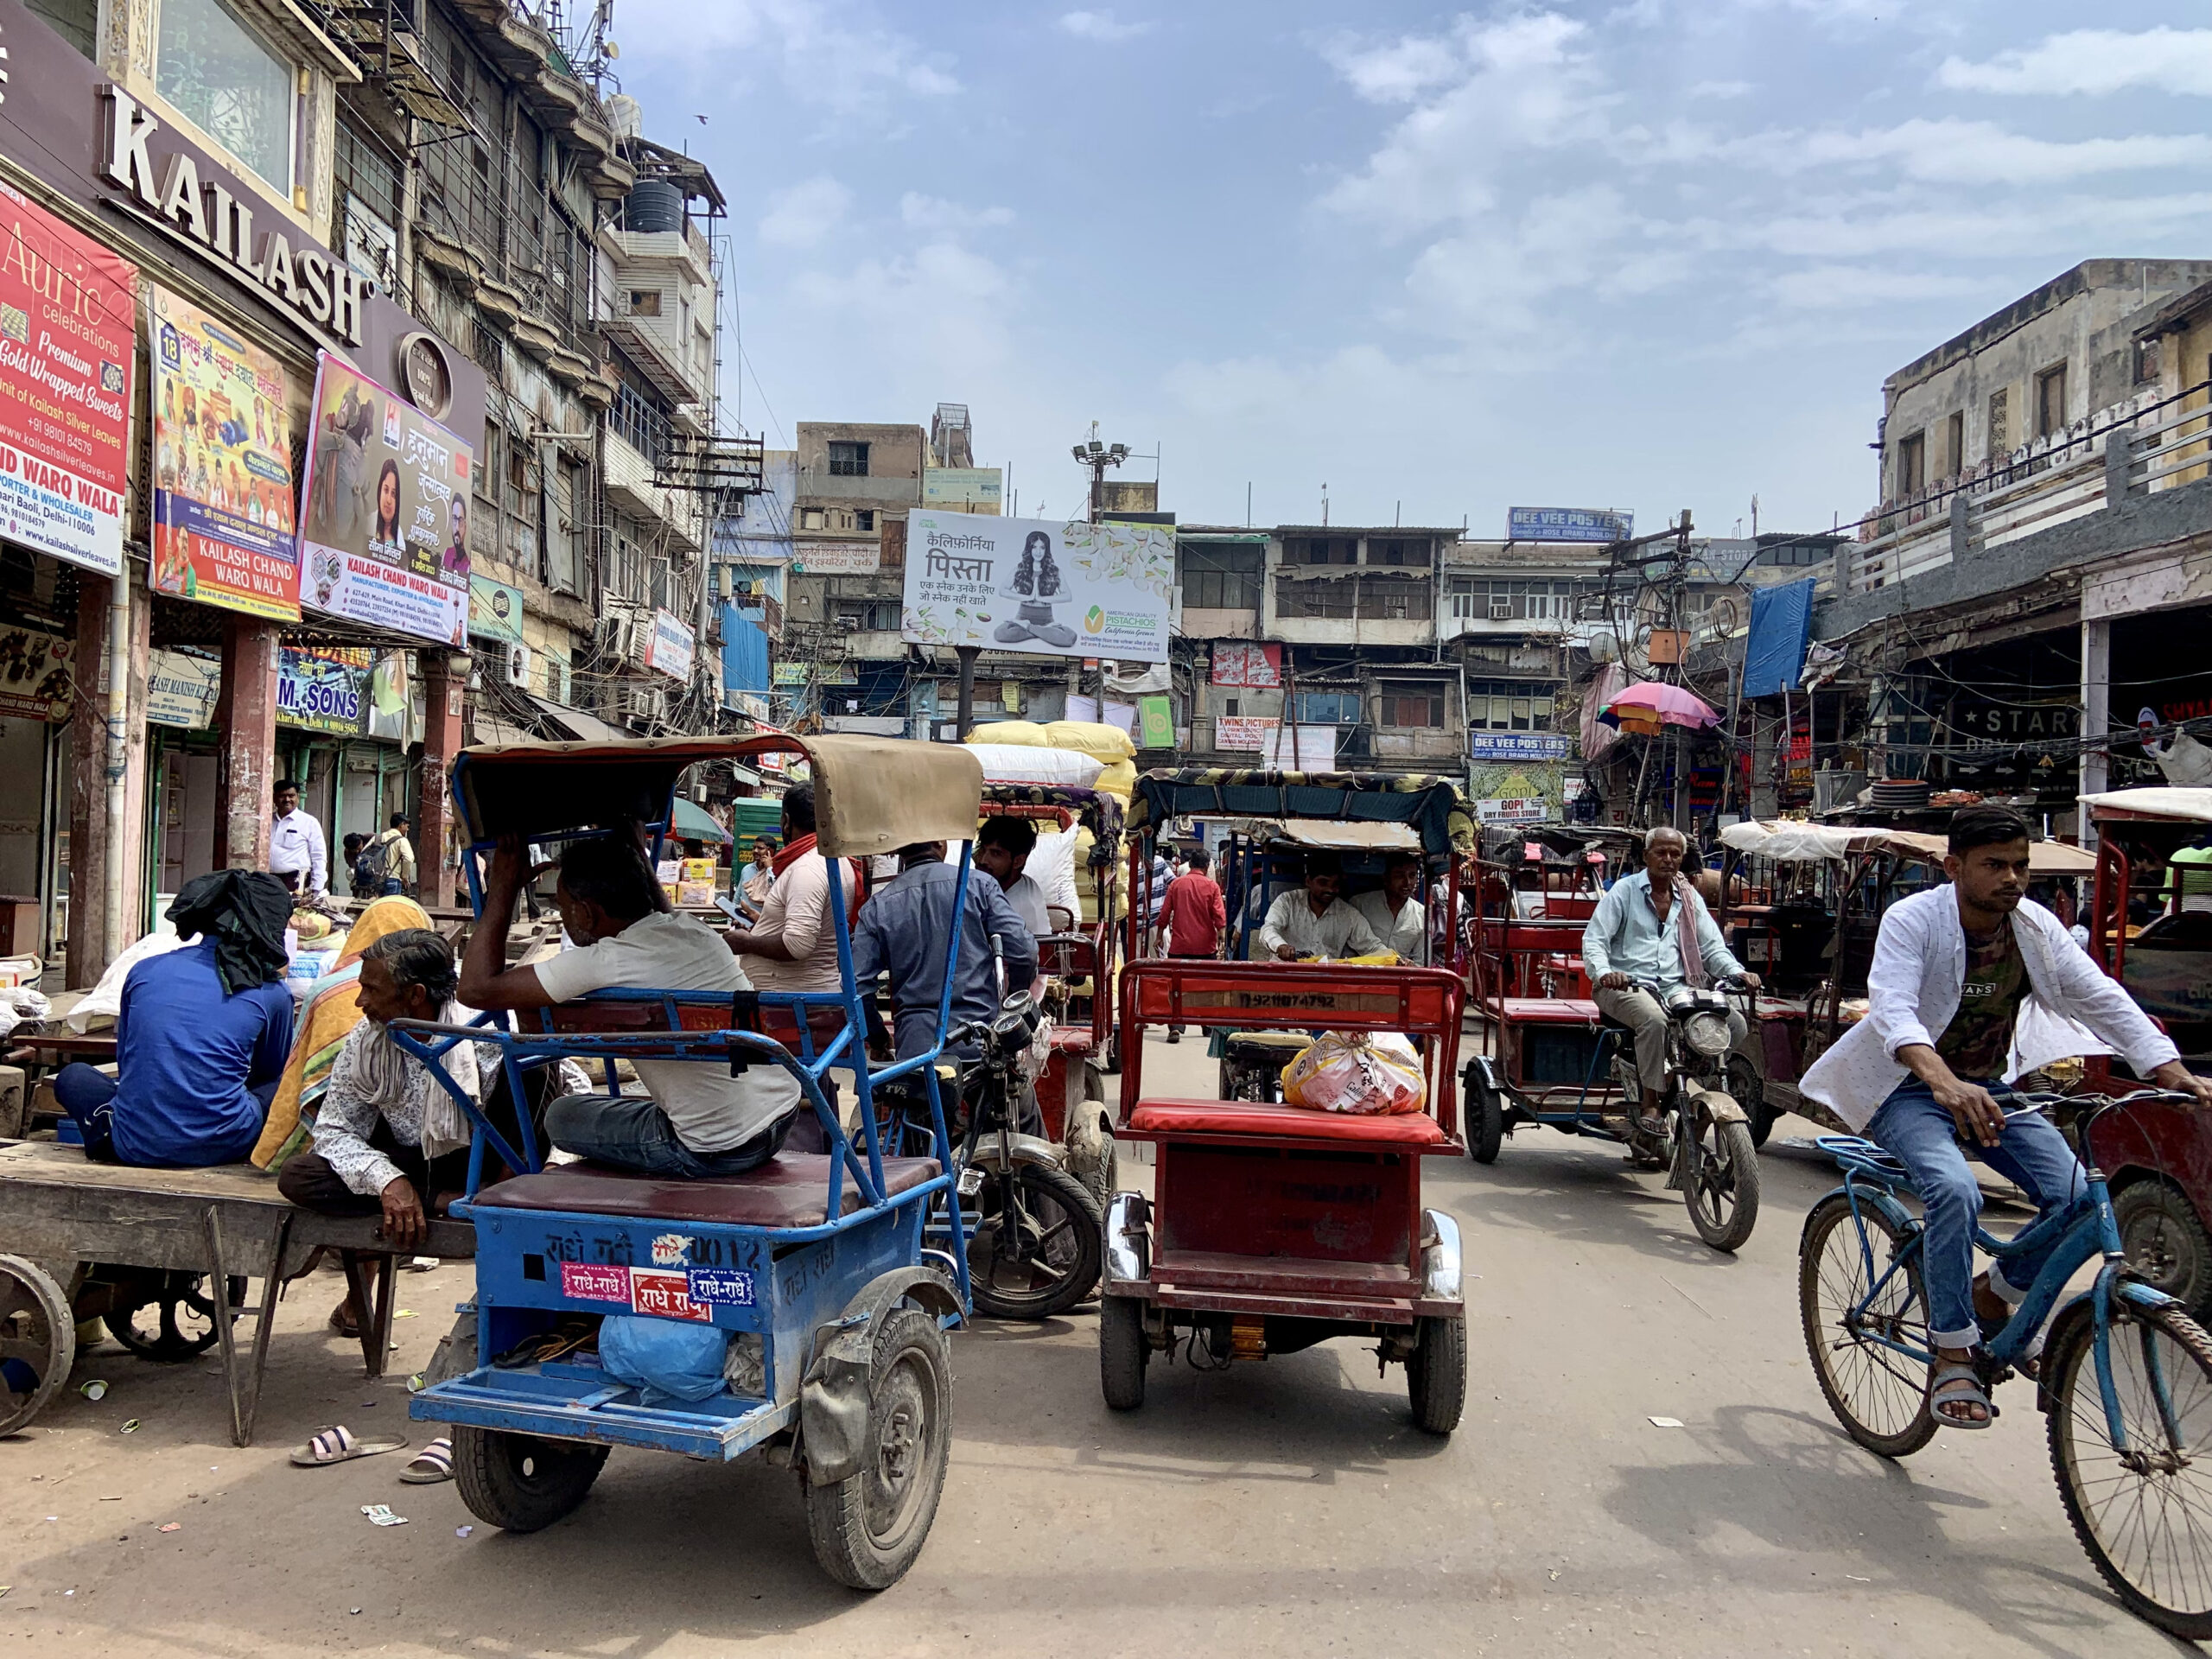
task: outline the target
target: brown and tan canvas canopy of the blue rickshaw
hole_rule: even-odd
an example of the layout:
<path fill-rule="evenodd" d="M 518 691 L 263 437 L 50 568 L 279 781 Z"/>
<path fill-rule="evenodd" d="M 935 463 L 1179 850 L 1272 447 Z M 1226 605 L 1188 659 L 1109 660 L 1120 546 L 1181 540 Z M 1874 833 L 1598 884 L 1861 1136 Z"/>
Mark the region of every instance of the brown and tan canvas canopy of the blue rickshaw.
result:
<path fill-rule="evenodd" d="M 677 779 L 701 761 L 803 754 L 825 858 L 874 858 L 920 841 L 969 841 L 982 765 L 958 743 L 896 737 L 657 737 L 628 743 L 495 743 L 462 750 L 453 794 L 471 845 L 555 838 L 617 818 L 666 823 Z"/>

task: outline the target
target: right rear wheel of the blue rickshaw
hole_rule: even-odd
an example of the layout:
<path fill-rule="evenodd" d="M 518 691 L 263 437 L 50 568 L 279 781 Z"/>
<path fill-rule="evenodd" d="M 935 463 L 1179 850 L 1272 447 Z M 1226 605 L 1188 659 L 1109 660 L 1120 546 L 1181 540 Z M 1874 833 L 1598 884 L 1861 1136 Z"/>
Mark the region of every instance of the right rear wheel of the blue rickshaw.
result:
<path fill-rule="evenodd" d="M 922 1553 L 951 1458 L 951 1374 L 931 1314 L 885 1316 L 869 1356 L 867 1464 L 830 1486 L 801 1475 L 814 1559 L 838 1584 L 885 1590 Z"/>

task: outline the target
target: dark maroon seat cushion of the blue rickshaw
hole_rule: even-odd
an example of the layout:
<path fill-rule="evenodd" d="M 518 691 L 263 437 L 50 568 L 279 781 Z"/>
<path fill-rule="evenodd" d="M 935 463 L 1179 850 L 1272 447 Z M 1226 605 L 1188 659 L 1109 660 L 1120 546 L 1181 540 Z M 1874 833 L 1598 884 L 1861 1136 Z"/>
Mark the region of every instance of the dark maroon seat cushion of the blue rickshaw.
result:
<path fill-rule="evenodd" d="M 938 1172 L 933 1157 L 883 1159 L 887 1192 L 909 1192 Z M 624 1175 L 597 1164 L 555 1164 L 538 1175 L 487 1186 L 476 1201 L 491 1210 L 566 1210 L 641 1221 L 721 1221 L 739 1228 L 818 1228 L 830 1217 L 830 1159 L 781 1152 L 745 1175 L 675 1181 Z M 845 1172 L 845 1214 L 860 1208 Z"/>

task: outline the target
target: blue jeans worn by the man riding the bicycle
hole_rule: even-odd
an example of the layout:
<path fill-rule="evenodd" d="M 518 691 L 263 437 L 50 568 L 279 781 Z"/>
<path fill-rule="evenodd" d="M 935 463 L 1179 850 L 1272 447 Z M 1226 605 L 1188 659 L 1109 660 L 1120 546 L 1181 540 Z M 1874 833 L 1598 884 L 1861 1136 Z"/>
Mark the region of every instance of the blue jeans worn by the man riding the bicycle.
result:
<path fill-rule="evenodd" d="M 2004 1104 L 2002 1082 L 1980 1082 Z M 1960 1146 L 1951 1113 L 1918 1077 L 1898 1084 L 1867 1124 L 1867 1139 L 1891 1152 L 1911 1170 L 1920 1208 L 1927 1212 L 1927 1243 L 1920 1245 L 1929 1292 L 1929 1336 L 1938 1347 L 1975 1347 L 1982 1327 L 1973 1316 L 1973 1228 L 1982 1219 L 1982 1188 L 1966 1168 L 1966 1155 L 2028 1194 L 2037 1221 L 2081 1197 L 2086 1181 L 2081 1161 L 2066 1137 L 2042 1113 L 2024 1113 L 2004 1126 L 1995 1146 Z M 2053 1239 L 2053 1248 L 2055 1248 Z M 2051 1248 L 2008 1256 L 2004 1272 L 1989 1270 L 1989 1287 L 2008 1303 L 2020 1303 L 2035 1274 L 2051 1259 Z"/>

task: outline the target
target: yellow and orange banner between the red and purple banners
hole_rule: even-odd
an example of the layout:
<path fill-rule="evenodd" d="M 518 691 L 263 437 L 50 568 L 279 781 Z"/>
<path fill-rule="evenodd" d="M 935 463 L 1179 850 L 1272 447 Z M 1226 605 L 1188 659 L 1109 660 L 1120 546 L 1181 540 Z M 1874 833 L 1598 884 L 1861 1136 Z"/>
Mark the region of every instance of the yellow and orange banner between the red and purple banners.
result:
<path fill-rule="evenodd" d="M 153 330 L 153 586 L 299 622 L 283 365 L 161 288 Z"/>

